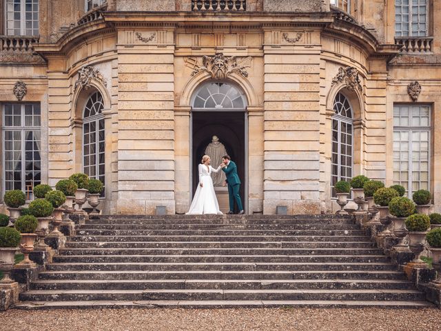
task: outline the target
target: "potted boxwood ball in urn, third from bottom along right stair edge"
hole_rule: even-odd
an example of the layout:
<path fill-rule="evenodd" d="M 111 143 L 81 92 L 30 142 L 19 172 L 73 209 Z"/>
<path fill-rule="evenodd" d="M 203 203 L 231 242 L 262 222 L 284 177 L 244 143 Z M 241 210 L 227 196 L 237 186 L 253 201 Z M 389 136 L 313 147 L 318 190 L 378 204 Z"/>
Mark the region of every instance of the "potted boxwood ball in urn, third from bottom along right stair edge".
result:
<path fill-rule="evenodd" d="M 396 249 L 407 250 L 407 245 L 404 245 L 404 238 L 407 235 L 407 230 L 404 225 L 406 218 L 415 213 L 415 204 L 411 199 L 406 197 L 396 197 L 389 202 L 389 212 L 392 214 L 393 234 L 400 239 Z"/>

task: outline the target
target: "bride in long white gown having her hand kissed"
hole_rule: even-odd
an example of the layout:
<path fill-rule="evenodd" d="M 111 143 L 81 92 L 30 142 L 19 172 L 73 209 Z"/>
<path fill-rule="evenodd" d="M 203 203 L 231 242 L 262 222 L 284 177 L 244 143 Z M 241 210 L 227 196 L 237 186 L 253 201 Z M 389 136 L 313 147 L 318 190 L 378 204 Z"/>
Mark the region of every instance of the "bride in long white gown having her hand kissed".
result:
<path fill-rule="evenodd" d="M 201 215 L 201 214 L 222 214 L 219 210 L 218 199 L 214 192 L 212 172 L 218 172 L 220 165 L 214 169 L 209 165 L 210 159 L 208 155 L 202 158 L 202 164 L 198 166 L 199 170 L 199 185 L 194 194 L 192 205 L 187 214 Z"/>

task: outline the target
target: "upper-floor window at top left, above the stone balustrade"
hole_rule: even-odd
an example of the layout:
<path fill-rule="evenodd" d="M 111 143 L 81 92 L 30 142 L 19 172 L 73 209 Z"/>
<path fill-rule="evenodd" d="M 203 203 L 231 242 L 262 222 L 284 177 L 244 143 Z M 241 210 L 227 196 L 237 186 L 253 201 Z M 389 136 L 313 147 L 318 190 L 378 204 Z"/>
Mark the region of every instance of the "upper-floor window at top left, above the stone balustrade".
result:
<path fill-rule="evenodd" d="M 6 34 L 39 34 L 39 0 L 6 0 Z"/>

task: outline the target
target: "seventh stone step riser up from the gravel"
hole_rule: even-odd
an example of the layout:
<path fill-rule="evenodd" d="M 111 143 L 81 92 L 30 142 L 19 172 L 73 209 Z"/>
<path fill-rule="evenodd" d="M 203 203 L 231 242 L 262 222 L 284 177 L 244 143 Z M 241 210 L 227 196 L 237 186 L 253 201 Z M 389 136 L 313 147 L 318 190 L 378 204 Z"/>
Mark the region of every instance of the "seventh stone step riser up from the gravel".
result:
<path fill-rule="evenodd" d="M 71 255 L 381 255 L 368 248 L 76 248 L 62 249 L 62 256 Z"/>

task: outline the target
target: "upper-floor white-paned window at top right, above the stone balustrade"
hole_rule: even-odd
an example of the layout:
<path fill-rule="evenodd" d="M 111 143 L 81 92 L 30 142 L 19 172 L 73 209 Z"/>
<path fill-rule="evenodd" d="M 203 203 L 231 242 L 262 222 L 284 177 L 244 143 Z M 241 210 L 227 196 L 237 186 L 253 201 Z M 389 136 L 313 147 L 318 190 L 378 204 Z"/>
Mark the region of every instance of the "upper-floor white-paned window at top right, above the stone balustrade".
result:
<path fill-rule="evenodd" d="M 429 0 L 395 0 L 396 37 L 426 37 L 428 35 Z"/>

